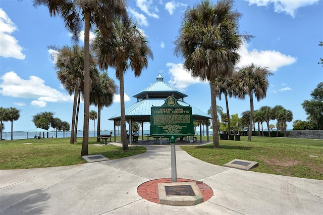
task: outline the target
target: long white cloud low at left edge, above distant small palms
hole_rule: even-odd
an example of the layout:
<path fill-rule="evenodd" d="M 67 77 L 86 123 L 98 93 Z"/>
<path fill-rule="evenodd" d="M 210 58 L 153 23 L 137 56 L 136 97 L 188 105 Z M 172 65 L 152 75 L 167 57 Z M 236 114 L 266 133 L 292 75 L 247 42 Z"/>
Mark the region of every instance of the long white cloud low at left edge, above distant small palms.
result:
<path fill-rule="evenodd" d="M 45 85 L 45 81 L 36 76 L 29 80 L 20 78 L 15 72 L 7 72 L 0 77 L 0 93 L 4 96 L 18 98 L 37 98 L 33 105 L 46 105 L 46 101 L 73 101 L 73 95 L 64 94 L 57 89 Z"/>

